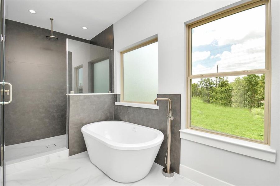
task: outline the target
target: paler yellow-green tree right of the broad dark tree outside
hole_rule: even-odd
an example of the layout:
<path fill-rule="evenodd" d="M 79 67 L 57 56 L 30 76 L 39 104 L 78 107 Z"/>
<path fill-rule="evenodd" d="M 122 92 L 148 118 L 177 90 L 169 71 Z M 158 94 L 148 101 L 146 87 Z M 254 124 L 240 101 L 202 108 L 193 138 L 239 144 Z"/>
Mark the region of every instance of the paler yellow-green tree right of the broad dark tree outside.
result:
<path fill-rule="evenodd" d="M 245 82 L 243 78 L 237 77 L 231 83 L 232 86 L 232 107 L 245 107 Z"/>

